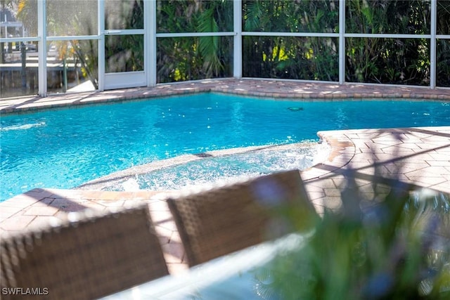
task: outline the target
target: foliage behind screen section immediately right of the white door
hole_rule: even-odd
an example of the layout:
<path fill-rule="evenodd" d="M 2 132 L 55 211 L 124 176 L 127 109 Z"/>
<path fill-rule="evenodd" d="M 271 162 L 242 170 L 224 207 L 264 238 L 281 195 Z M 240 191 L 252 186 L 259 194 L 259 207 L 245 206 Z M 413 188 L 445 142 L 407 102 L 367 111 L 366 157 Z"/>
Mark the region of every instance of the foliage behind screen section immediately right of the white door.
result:
<path fill-rule="evenodd" d="M 233 30 L 233 2 L 158 1 L 158 32 Z M 231 77 L 232 37 L 158 39 L 158 82 Z"/>

